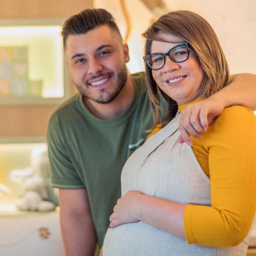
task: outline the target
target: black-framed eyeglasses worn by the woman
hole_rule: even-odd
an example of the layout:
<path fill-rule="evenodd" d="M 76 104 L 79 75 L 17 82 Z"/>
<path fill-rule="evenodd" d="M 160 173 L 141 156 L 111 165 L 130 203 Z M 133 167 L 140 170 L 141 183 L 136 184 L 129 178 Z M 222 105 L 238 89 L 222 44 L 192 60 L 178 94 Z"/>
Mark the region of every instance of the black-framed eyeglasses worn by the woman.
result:
<path fill-rule="evenodd" d="M 184 42 L 169 49 L 168 53 L 151 53 L 143 56 L 143 60 L 151 69 L 158 70 L 166 64 L 166 56 L 177 63 L 188 60 L 189 50 L 189 43 Z"/>

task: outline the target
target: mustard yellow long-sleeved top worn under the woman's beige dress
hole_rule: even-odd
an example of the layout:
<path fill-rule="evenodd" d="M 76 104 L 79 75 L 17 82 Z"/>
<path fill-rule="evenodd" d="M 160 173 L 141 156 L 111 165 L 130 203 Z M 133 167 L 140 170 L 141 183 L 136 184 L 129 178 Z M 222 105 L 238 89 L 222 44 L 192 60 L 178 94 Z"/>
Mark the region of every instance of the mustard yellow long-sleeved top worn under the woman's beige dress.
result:
<path fill-rule="evenodd" d="M 192 149 L 210 178 L 211 207 L 186 206 L 186 239 L 188 244 L 235 246 L 247 236 L 256 211 L 256 117 L 251 109 L 232 106 L 201 135 L 192 137 Z"/>

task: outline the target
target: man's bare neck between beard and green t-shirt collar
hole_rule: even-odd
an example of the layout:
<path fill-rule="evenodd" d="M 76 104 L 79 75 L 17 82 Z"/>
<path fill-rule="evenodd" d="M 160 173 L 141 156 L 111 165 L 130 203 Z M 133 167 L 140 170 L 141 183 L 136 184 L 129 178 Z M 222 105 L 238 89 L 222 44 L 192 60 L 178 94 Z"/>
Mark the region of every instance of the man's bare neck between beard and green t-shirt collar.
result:
<path fill-rule="evenodd" d="M 83 102 L 90 113 L 95 117 L 100 119 L 111 119 L 119 116 L 128 109 L 129 105 L 132 103 L 133 95 L 134 86 L 130 75 L 128 75 L 124 87 L 113 101 L 103 104 L 84 98 Z"/>

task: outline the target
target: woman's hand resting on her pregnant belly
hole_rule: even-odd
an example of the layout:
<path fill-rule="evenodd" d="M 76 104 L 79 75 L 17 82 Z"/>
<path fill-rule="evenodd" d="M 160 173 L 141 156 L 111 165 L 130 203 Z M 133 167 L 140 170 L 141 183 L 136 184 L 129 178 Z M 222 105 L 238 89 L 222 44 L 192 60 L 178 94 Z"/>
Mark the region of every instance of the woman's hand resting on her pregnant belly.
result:
<path fill-rule="evenodd" d="M 114 228 L 124 223 L 139 221 L 139 202 L 143 194 L 136 190 L 128 191 L 117 200 L 113 214 L 109 217 L 109 227 Z"/>

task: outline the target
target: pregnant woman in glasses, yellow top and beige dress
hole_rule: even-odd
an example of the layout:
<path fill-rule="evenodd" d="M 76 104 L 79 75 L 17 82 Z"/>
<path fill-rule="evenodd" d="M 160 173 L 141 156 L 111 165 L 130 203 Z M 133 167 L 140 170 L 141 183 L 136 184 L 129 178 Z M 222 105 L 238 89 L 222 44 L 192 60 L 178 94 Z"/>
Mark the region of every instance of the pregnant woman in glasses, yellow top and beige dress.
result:
<path fill-rule="evenodd" d="M 155 134 L 123 168 L 103 255 L 246 255 L 256 210 L 256 117 L 227 108 L 192 147 L 179 144 L 179 111 L 225 87 L 228 65 L 211 26 L 193 12 L 163 15 L 143 36 Z M 169 113 L 157 126 L 159 91 Z"/>

